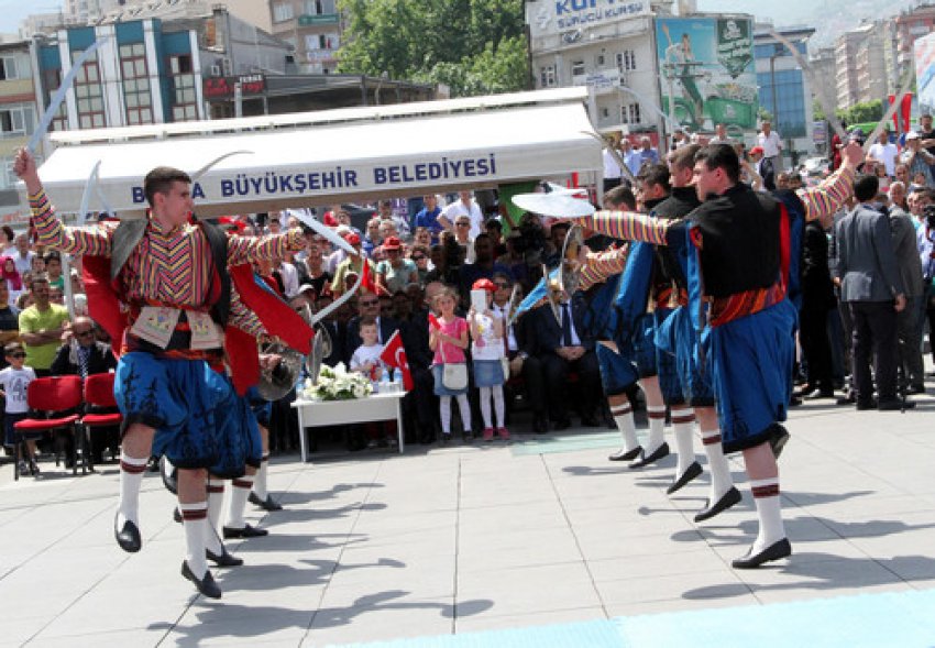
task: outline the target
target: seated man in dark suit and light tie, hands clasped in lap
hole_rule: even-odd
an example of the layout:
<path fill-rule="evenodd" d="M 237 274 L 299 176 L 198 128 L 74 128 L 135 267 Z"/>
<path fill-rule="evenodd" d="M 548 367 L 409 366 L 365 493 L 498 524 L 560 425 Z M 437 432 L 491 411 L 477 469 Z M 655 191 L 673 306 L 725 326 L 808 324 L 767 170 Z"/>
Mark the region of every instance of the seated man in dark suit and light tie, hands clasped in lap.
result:
<path fill-rule="evenodd" d="M 579 293 L 572 299 L 561 294 L 558 318 L 551 307 L 536 310 L 535 327 L 539 360 L 546 372 L 546 388 L 549 394 L 549 414 L 556 421 L 556 429 L 571 426 L 565 396 L 568 395 L 568 374 L 575 372 L 579 378 L 581 396 L 581 422 L 597 426 L 596 397 L 601 394 L 601 374 L 597 356 L 594 352 L 594 339 L 586 333 L 583 323 L 586 307 Z"/>

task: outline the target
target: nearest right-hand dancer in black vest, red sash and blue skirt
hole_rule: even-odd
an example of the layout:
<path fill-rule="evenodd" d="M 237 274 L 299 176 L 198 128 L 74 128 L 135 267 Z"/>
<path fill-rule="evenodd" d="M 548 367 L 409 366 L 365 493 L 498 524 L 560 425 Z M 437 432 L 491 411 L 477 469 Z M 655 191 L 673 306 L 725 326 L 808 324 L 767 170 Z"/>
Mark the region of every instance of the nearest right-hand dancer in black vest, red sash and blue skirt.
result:
<path fill-rule="evenodd" d="M 861 157 L 859 146 L 848 146 L 838 174 L 821 187 L 799 193 L 806 220 L 844 202 Z M 785 299 L 790 264 L 785 209 L 738 178 L 734 150 L 706 146 L 694 165 L 695 190 L 704 202 L 685 220 L 602 211 L 580 221 L 616 238 L 656 245 L 683 239 L 695 249 L 689 254 L 689 262 L 697 264 L 697 272 L 689 276 L 690 292 L 697 292 L 707 304 L 703 334 L 710 337 L 722 443 L 725 452 L 744 453 L 759 519 L 752 546 L 732 564 L 750 569 L 792 553 L 782 523 L 774 448 L 789 437 L 780 421 L 792 393 L 795 309 Z"/>

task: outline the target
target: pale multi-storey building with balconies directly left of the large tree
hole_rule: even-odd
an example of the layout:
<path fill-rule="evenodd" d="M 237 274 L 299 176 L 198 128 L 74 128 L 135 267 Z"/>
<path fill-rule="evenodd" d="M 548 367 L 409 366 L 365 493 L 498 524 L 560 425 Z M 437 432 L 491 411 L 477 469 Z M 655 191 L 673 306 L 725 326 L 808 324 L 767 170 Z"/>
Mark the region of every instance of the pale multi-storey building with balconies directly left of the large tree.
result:
<path fill-rule="evenodd" d="M 344 29 L 337 0 L 268 0 L 272 34 L 296 52 L 302 74 L 332 74 Z"/>

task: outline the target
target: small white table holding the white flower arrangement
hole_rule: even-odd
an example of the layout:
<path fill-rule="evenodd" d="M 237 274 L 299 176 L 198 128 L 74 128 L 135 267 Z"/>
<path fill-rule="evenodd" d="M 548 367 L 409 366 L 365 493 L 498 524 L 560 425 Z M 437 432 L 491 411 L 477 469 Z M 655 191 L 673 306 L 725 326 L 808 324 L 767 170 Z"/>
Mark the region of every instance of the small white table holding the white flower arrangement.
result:
<path fill-rule="evenodd" d="M 403 454 L 403 396 L 405 392 L 372 394 L 366 398 L 350 400 L 305 400 L 293 403 L 299 415 L 299 444 L 301 461 L 308 460 L 305 428 L 333 426 L 396 418 L 396 435 L 399 439 L 399 454 Z"/>

